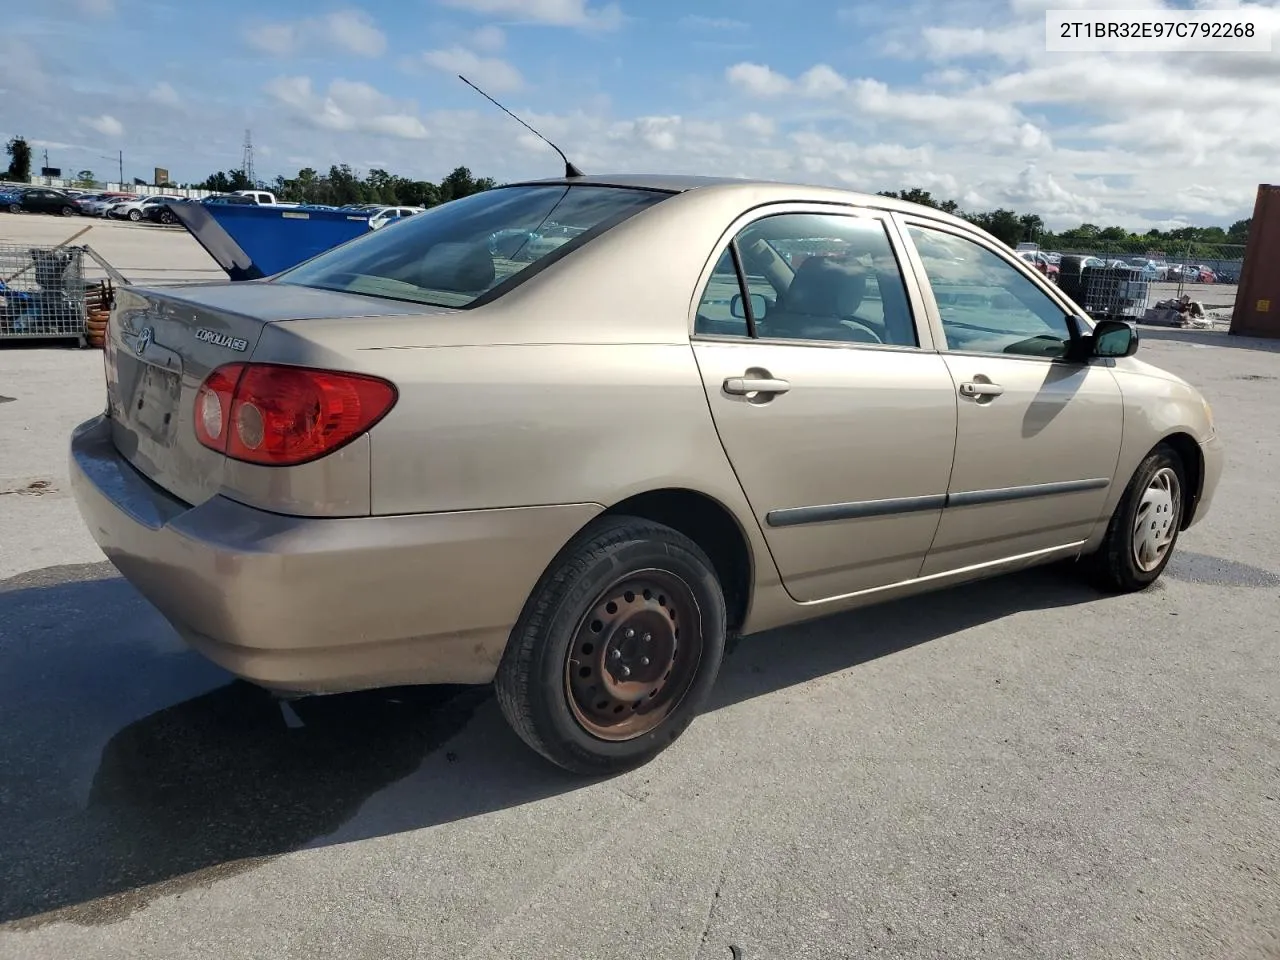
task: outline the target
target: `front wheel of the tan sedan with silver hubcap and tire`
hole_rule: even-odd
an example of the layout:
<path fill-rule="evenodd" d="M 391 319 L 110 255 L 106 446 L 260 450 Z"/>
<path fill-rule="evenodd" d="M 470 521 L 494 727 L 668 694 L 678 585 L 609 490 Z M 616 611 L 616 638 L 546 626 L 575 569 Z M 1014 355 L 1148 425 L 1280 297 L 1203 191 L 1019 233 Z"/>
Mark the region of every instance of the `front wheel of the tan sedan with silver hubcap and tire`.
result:
<path fill-rule="evenodd" d="M 1183 521 L 1185 468 L 1171 448 L 1156 447 L 1116 504 L 1097 553 L 1084 559 L 1091 579 L 1111 593 L 1134 593 L 1165 572 Z"/>

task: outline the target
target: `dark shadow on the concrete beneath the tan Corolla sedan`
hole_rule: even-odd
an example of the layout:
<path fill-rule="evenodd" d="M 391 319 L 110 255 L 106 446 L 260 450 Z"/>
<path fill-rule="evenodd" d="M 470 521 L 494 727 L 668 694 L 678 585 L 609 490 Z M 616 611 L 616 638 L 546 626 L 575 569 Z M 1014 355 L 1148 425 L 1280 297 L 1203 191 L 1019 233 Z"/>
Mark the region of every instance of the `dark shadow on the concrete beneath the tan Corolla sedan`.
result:
<path fill-rule="evenodd" d="M 708 709 L 1092 599 L 1039 570 L 750 636 Z M 105 563 L 0 582 L 0 923 L 109 922 L 265 858 L 590 783 L 529 751 L 489 687 L 282 701 L 187 650 Z"/>

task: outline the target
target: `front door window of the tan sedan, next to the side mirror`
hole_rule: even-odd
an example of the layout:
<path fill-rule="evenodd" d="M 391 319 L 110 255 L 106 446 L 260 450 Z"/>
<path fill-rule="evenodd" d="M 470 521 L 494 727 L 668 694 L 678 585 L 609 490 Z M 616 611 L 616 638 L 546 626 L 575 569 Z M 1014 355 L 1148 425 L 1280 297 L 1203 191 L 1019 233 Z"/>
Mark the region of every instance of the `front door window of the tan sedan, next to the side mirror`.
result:
<path fill-rule="evenodd" d="M 1066 312 L 980 243 L 925 227 L 908 232 L 924 261 L 947 349 L 1061 357 L 1071 342 Z"/>

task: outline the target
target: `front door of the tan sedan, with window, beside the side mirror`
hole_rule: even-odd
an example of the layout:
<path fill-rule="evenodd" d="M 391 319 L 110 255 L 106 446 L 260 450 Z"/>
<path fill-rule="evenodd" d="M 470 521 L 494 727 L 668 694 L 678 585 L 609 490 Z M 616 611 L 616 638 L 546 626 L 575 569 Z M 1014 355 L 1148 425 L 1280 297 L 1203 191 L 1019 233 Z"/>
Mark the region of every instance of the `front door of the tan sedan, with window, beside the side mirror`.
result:
<path fill-rule="evenodd" d="M 1087 540 L 1120 456 L 1115 376 L 1065 360 L 1066 308 L 1012 255 L 923 223 L 906 233 L 960 404 L 947 509 L 923 573 Z"/>

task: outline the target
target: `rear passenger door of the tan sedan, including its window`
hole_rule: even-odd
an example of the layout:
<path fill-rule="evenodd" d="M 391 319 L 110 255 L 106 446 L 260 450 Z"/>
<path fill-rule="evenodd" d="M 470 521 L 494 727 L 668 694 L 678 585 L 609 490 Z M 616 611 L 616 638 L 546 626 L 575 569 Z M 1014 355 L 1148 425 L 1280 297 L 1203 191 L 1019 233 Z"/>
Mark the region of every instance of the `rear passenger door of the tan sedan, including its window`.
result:
<path fill-rule="evenodd" d="M 756 214 L 698 307 L 721 442 L 800 602 L 915 577 L 946 498 L 957 398 L 892 230 L 852 207 Z"/>

